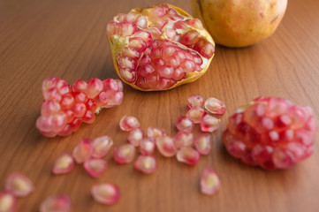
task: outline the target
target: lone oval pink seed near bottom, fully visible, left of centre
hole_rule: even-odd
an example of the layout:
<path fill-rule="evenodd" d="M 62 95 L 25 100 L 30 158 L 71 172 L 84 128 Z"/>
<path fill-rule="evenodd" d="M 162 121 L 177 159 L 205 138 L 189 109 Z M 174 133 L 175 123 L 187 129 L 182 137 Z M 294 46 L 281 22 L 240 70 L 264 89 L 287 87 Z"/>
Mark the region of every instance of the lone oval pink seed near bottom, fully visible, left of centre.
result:
<path fill-rule="evenodd" d="M 115 204 L 121 197 L 118 186 L 110 183 L 97 184 L 93 186 L 91 194 L 95 201 L 105 205 Z"/>

